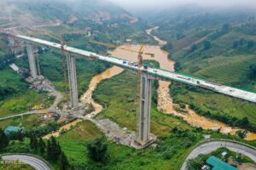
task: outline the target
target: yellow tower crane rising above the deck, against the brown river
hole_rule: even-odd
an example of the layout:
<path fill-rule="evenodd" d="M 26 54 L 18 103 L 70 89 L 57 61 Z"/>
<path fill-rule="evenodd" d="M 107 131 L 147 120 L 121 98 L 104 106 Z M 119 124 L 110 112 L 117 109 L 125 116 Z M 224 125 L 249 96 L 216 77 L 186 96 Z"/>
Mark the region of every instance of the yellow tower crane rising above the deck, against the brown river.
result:
<path fill-rule="evenodd" d="M 113 45 L 111 43 L 106 43 L 106 42 L 97 42 L 97 41 L 94 41 L 94 40 L 93 41 L 89 41 L 89 42 L 95 43 L 97 45 L 102 45 L 102 46 L 105 46 L 105 47 L 108 47 L 108 48 L 119 48 L 119 49 L 122 49 L 122 50 L 125 50 L 125 51 L 130 51 L 132 53 L 137 53 L 137 65 L 139 67 L 143 66 L 143 54 L 149 55 L 150 57 L 154 57 L 154 54 L 144 53 L 143 52 L 143 49 L 145 47 L 144 43 L 141 44 L 141 47 L 140 47 L 139 51 L 136 51 L 136 50 L 132 50 L 132 49 L 128 49 L 128 48 L 119 47 L 117 45 Z"/>

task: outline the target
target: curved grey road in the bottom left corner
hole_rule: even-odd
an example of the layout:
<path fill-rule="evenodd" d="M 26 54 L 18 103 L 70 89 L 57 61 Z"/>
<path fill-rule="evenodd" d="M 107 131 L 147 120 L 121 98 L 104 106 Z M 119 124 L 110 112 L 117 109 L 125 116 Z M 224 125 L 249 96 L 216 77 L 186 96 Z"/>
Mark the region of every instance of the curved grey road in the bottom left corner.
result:
<path fill-rule="evenodd" d="M 33 156 L 23 156 L 23 155 L 11 155 L 11 156 L 3 156 L 3 160 L 19 160 L 22 161 L 36 170 L 51 170 L 51 168 L 40 159 Z"/>

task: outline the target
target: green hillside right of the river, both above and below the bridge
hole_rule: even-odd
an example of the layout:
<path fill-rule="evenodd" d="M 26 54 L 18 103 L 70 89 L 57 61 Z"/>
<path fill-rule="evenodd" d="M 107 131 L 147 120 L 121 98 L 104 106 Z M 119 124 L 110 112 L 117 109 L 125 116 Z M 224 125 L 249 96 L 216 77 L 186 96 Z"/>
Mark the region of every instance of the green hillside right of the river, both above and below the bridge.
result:
<path fill-rule="evenodd" d="M 164 48 L 175 60 L 176 71 L 256 92 L 254 13 L 237 10 L 224 15 L 224 11 L 209 10 L 201 14 L 189 7 L 186 13 L 181 11 L 170 19 L 152 21 L 160 26 L 154 34 L 168 42 Z M 175 17 L 178 21 L 173 23 Z M 256 130 L 256 105 L 177 83 L 172 83 L 171 95 L 203 116 Z"/>

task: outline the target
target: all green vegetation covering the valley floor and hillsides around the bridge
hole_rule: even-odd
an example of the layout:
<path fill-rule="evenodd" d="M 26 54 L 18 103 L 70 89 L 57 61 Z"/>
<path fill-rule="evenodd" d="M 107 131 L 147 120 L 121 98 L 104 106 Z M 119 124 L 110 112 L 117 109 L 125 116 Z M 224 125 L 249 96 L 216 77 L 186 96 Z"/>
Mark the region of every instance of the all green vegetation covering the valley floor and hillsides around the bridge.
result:
<path fill-rule="evenodd" d="M 60 26 L 47 26 L 44 29 L 55 37 L 61 37 L 67 45 L 75 48 L 106 54 L 108 48 L 91 44 L 89 41 L 122 44 L 126 39 L 132 39 L 132 42 L 136 43 L 155 43 L 153 38 L 144 32 L 148 28 L 147 24 L 143 22 L 131 24 L 127 18 L 120 18 L 120 14 L 126 13 L 124 10 L 117 7 L 102 9 L 98 1 L 88 2 L 89 5 L 68 7 L 64 3 L 60 4 L 61 1 L 53 2 L 52 5 L 50 5 L 51 2 L 44 1 L 27 4 L 21 8 L 32 14 L 35 19 L 61 20 L 63 24 Z M 61 8 L 56 8 L 59 5 Z M 111 19 L 104 20 L 106 16 L 101 15 L 97 15 L 96 18 L 91 17 L 90 13 L 87 13 L 89 8 L 94 12 L 95 8 L 99 11 L 107 11 Z M 255 64 L 253 63 L 256 59 L 256 37 L 253 17 L 247 20 L 247 14 L 246 16 L 239 14 L 240 17 L 236 14 L 219 16 L 198 14 L 195 11 L 198 10 L 172 11 L 176 14 L 169 12 L 163 17 L 155 17 L 152 22 L 155 26 L 160 26 L 160 30 L 154 33 L 168 41 L 164 48 L 171 52 L 170 57 L 177 61 L 175 65 L 177 71 L 255 91 Z M 190 15 L 193 13 L 196 14 Z M 172 15 L 170 19 L 169 14 Z M 70 21 L 71 18 L 78 18 L 78 20 Z M 84 30 L 87 28 L 91 29 L 90 37 L 84 35 Z M 27 34 L 59 42 L 44 34 L 40 35 L 32 31 Z M 7 52 L 1 49 L 0 59 L 4 59 L 5 54 Z M 62 82 L 61 54 L 49 48 L 46 51 L 40 51 L 39 58 L 42 74 L 53 82 L 56 88 L 63 91 L 65 85 Z M 159 67 L 153 61 L 147 62 L 148 65 Z M 26 55 L 15 60 L 15 64 L 23 68 L 28 68 L 27 63 Z M 110 66 L 99 61 L 78 58 L 79 95 L 88 88 L 91 77 Z M 2 93 L 0 116 L 28 111 L 32 105 L 41 103 L 49 105 L 46 94 L 38 94 L 28 89 L 28 83 L 8 66 L 0 71 L 0 78 L 2 80 L 0 82 L 0 93 Z M 68 165 L 78 170 L 84 168 L 174 170 L 181 166 L 189 150 L 203 139 L 203 134 L 211 134 L 212 138 L 217 139 L 236 139 L 246 142 L 236 136 L 191 127 L 181 118 L 164 115 L 157 111 L 157 88 L 158 83 L 154 82 L 151 133 L 158 135 L 159 139 L 155 148 L 133 150 L 124 145 L 114 144 L 102 135 L 95 124 L 88 121 L 80 122 L 70 130 L 61 132 L 61 136 L 57 139 L 43 140 L 41 137 L 44 134 L 55 131 L 60 125 L 52 121 L 44 122 L 36 116 L 25 116 L 23 119 L 15 118 L 0 122 L 2 128 L 9 124 L 26 128 L 23 139 L 20 138 L 20 133 L 17 133 L 19 136 L 11 137 L 9 145 L 5 146 L 1 152 L 24 152 L 43 156 L 55 169 L 65 169 L 64 165 Z M 97 102 L 106 106 L 99 117 L 109 118 L 119 123 L 121 127 L 135 131 L 138 108 L 135 92 L 137 91 L 137 77 L 127 71 L 102 81 L 93 96 Z M 218 119 L 230 126 L 256 131 L 253 124 L 256 121 L 256 106 L 253 104 L 176 83 L 172 83 L 171 95 L 174 102 L 180 103 L 181 106 L 184 106 L 184 103 L 189 104 L 203 116 Z M 44 126 L 38 126 L 38 124 L 44 124 Z M 243 137 L 241 133 L 237 135 Z M 96 139 L 98 136 L 103 137 Z M 247 144 L 255 145 L 255 141 Z"/>

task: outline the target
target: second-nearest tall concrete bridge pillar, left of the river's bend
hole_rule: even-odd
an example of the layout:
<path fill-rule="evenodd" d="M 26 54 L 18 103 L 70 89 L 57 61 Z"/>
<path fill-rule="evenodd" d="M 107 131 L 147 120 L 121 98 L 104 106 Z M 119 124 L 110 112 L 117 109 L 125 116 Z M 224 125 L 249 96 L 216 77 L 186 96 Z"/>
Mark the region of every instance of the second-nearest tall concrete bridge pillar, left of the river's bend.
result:
<path fill-rule="evenodd" d="M 79 106 L 79 94 L 77 84 L 76 59 L 72 54 L 67 54 L 67 71 L 71 97 L 71 106 L 76 108 Z"/>

